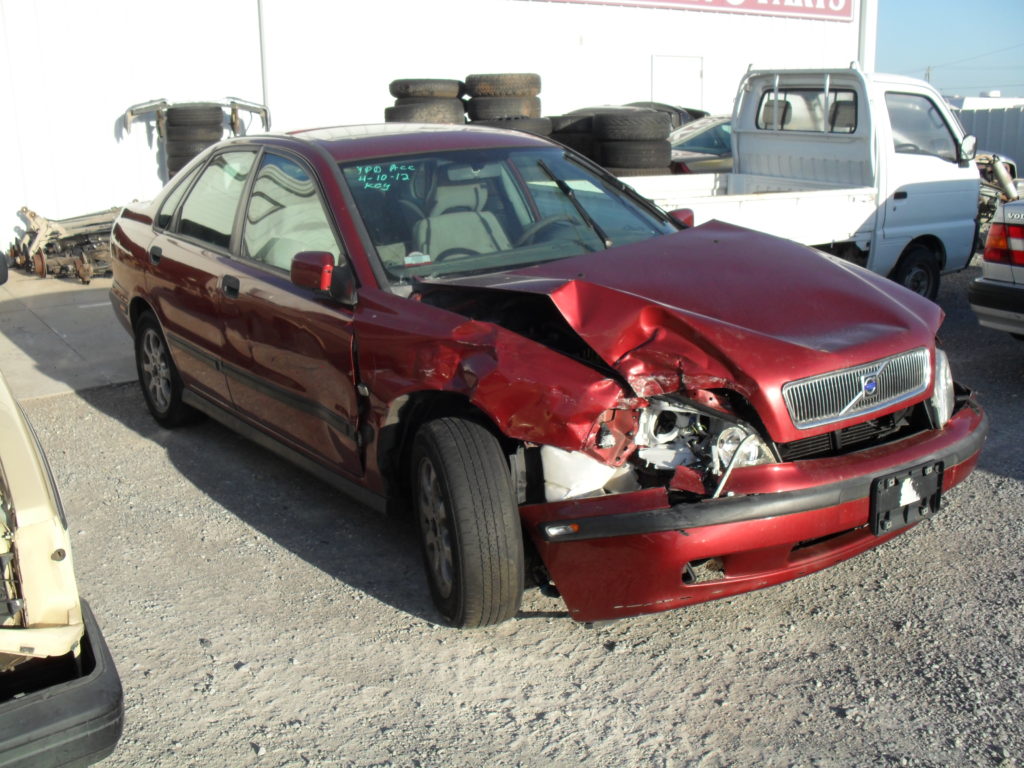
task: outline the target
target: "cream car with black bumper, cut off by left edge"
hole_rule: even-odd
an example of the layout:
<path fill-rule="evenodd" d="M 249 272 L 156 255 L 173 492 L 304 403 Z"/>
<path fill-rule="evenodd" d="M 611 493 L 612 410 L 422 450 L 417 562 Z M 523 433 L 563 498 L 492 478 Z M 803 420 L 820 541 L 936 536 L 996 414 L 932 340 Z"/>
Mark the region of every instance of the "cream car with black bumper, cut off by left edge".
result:
<path fill-rule="evenodd" d="M 46 459 L 2 374 L 0 528 L 0 764 L 91 765 L 121 736 L 121 681 L 79 597 Z"/>

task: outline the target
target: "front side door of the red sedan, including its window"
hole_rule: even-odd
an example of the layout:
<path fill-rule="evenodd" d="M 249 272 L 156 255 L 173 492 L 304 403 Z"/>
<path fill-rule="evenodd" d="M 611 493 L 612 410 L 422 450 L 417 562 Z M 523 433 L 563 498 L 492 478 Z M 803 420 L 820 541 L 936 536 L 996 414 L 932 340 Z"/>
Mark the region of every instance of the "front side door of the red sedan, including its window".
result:
<path fill-rule="evenodd" d="M 236 410 L 292 449 L 361 474 L 352 313 L 290 280 L 300 251 L 346 257 L 312 171 L 266 152 L 242 221 L 239 258 L 225 275 L 225 373 Z"/>

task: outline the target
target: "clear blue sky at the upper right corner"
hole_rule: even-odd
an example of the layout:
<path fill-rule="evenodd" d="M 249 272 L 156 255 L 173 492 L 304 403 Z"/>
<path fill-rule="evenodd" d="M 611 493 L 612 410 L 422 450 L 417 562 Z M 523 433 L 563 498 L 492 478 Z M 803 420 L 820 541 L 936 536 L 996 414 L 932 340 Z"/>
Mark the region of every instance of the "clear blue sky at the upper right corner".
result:
<path fill-rule="evenodd" d="M 877 72 L 930 80 L 946 96 L 1024 97 L 1024 0 L 876 1 Z"/>

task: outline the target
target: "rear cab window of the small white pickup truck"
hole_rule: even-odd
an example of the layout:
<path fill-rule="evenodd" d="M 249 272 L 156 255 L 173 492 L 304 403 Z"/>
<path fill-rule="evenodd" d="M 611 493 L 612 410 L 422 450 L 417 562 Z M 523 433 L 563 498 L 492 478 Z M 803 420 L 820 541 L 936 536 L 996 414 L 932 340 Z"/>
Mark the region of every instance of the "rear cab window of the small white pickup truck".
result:
<path fill-rule="evenodd" d="M 821 88 L 765 91 L 758 105 L 757 127 L 766 131 L 853 133 L 857 130 L 857 94 Z"/>

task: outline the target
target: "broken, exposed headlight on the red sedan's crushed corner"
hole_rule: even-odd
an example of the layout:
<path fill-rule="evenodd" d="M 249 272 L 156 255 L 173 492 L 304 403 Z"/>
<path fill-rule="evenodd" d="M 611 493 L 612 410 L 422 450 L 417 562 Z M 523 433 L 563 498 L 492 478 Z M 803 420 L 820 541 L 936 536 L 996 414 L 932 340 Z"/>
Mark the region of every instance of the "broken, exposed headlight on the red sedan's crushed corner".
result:
<path fill-rule="evenodd" d="M 636 444 L 637 457 L 651 469 L 686 466 L 714 477 L 777 461 L 749 424 L 686 400 L 652 400 L 640 415 Z"/>

